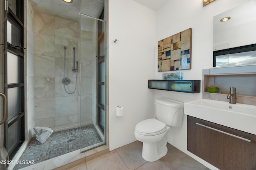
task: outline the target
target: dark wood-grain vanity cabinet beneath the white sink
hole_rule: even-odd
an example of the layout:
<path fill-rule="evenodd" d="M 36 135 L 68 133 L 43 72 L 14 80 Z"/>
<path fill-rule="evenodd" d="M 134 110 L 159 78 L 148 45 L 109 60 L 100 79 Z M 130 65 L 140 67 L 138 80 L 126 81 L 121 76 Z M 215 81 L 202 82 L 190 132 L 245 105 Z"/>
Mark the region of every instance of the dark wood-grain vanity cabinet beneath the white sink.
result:
<path fill-rule="evenodd" d="M 191 116 L 188 116 L 187 122 L 188 151 L 220 170 L 256 170 L 256 135 Z M 208 127 L 240 136 L 250 142 Z"/>

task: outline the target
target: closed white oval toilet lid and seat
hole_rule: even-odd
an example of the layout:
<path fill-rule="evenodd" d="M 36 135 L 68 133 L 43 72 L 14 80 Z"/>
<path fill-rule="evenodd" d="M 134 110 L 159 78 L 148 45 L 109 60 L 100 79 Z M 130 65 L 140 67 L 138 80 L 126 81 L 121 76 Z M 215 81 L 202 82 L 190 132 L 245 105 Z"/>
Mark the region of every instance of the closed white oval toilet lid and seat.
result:
<path fill-rule="evenodd" d="M 135 130 L 138 134 L 153 136 L 166 131 L 166 125 L 156 119 L 146 119 L 138 123 Z"/>

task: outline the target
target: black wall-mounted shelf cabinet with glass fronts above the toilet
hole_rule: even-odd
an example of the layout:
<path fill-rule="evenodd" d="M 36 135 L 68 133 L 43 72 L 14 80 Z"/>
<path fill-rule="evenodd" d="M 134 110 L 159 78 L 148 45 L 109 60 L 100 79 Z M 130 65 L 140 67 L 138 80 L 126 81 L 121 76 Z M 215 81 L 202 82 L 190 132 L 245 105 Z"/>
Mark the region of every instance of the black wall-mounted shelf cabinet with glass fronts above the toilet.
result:
<path fill-rule="evenodd" d="M 149 89 L 200 93 L 200 80 L 148 80 Z"/>

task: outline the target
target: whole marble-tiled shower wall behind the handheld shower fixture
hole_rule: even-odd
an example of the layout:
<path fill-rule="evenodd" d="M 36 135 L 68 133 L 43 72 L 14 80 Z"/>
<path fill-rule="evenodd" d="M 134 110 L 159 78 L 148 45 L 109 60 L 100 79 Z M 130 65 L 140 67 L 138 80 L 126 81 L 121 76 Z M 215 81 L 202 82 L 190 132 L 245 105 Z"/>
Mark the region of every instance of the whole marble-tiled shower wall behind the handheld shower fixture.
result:
<path fill-rule="evenodd" d="M 92 32 L 81 32 L 79 59 L 79 23 L 45 14 L 34 14 L 34 98 L 35 125 L 55 131 L 92 124 Z M 66 46 L 66 70 L 64 70 Z M 78 73 L 72 71 L 73 47 Z M 80 63 L 81 62 L 81 63 Z M 71 79 L 65 85 L 62 79 Z M 77 74 L 77 75 L 76 75 Z M 76 78 L 77 76 L 77 78 Z M 80 86 L 81 76 L 81 87 Z M 77 81 L 77 84 L 76 84 Z M 95 86 L 95 85 L 94 85 Z M 76 90 L 75 90 L 76 89 Z M 79 90 L 80 89 L 80 90 Z M 80 96 L 81 93 L 81 96 Z M 80 100 L 82 116 L 80 115 Z"/>

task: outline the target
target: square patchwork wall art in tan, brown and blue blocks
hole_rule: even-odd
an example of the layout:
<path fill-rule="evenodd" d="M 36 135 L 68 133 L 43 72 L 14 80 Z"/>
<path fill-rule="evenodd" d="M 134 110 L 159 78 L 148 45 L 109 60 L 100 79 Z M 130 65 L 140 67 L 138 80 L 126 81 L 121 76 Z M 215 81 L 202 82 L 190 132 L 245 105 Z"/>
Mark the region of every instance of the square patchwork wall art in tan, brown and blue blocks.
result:
<path fill-rule="evenodd" d="M 158 41 L 158 71 L 191 69 L 192 28 Z"/>

